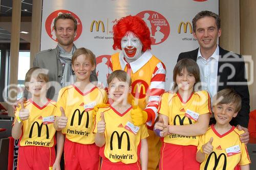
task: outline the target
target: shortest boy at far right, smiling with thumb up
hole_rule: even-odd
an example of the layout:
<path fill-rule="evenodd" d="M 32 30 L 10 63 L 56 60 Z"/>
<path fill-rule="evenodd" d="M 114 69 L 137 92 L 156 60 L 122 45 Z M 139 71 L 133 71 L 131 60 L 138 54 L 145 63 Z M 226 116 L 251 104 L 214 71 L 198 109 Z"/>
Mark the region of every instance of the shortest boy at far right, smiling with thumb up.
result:
<path fill-rule="evenodd" d="M 232 89 L 219 91 L 213 102 L 216 125 L 211 125 L 199 137 L 196 159 L 200 169 L 249 169 L 249 155 L 245 143 L 240 141 L 239 131 L 229 124 L 241 109 L 241 98 Z"/>

